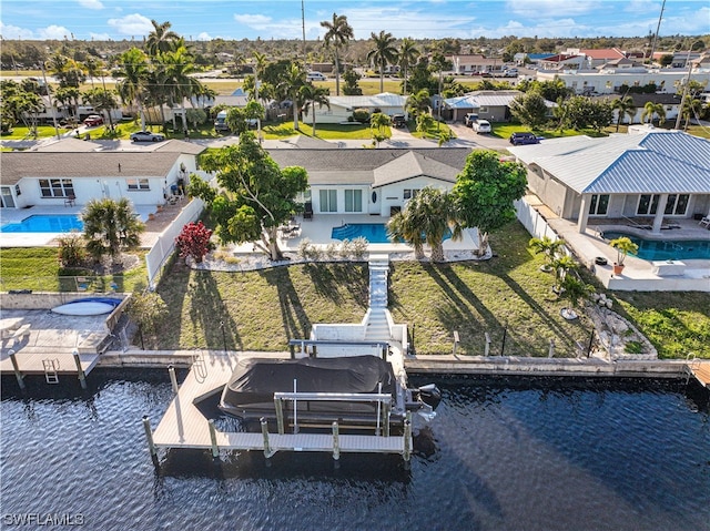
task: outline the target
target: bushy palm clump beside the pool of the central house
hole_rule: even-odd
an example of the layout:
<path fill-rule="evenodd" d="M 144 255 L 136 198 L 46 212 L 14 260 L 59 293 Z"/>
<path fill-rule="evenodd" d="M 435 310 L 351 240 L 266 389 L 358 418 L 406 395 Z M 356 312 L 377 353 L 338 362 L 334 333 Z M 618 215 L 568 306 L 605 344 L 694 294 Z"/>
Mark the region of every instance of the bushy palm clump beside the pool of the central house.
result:
<path fill-rule="evenodd" d="M 454 216 L 449 194 L 432 186 L 426 186 L 409 200 L 404 211 L 395 214 L 387 226 L 394 237 L 414 246 L 417 259 L 422 259 L 422 245 L 426 242 L 432 248 L 433 262 L 444 262 L 443 244 L 448 231 L 452 231 L 454 239 L 462 236 L 462 227 Z"/>

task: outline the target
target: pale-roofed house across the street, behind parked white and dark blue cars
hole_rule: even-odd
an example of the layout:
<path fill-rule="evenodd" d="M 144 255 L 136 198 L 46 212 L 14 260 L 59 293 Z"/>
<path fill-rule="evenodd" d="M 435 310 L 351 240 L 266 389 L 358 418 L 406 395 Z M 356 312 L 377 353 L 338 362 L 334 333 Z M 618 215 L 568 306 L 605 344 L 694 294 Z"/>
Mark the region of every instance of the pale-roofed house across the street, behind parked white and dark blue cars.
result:
<path fill-rule="evenodd" d="M 464 121 L 466 114 L 476 114 L 489 122 L 507 122 L 510 119 L 510 102 L 523 94 L 520 91 L 475 91 L 463 96 L 444 100 L 442 115 L 453 122 Z M 557 104 L 546 102 L 548 108 Z"/>

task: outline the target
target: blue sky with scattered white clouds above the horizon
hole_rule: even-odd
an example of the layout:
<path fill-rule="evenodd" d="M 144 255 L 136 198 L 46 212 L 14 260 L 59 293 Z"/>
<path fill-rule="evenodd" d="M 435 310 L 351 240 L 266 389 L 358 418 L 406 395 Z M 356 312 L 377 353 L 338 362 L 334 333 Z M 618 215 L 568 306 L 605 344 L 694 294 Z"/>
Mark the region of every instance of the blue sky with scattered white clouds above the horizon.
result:
<path fill-rule="evenodd" d="M 187 40 L 323 37 L 321 21 L 344 14 L 355 39 L 504 35 L 646 37 L 662 0 L 0 0 L 3 39 L 142 40 L 151 19 Z M 710 0 L 666 0 L 659 34 L 710 33 Z"/>

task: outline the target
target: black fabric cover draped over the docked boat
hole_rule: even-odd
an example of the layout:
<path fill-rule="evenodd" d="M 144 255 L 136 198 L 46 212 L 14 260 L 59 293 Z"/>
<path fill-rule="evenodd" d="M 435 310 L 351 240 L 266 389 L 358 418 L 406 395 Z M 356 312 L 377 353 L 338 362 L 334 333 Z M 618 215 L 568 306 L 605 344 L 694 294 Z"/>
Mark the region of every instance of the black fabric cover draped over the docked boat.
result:
<path fill-rule="evenodd" d="M 266 359 L 244 358 L 222 392 L 220 408 L 237 417 L 275 413 L 274 392 L 382 392 L 396 390 L 392 365 L 376 356 L 338 358 Z M 291 407 L 284 408 L 287 410 Z M 349 417 L 371 415 L 376 404 L 298 401 L 298 411 Z"/>

